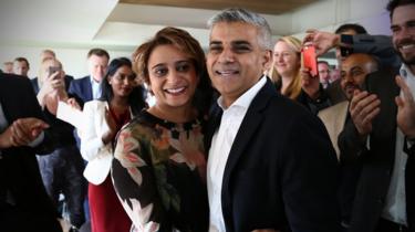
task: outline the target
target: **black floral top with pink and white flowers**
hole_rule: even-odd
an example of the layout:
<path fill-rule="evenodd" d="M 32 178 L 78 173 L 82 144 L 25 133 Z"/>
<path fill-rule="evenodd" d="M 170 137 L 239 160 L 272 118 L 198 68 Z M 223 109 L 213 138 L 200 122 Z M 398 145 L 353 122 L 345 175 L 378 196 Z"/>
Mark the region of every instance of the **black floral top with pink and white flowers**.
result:
<path fill-rule="evenodd" d="M 143 110 L 121 130 L 112 178 L 132 231 L 208 230 L 201 123 L 174 124 Z"/>

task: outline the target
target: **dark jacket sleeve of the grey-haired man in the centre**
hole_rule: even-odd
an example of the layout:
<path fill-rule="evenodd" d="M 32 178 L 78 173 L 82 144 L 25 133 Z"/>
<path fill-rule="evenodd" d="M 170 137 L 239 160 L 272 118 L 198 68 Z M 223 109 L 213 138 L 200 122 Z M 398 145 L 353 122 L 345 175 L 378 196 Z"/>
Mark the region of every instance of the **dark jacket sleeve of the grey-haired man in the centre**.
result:
<path fill-rule="evenodd" d="M 288 222 L 293 232 L 340 231 L 335 151 L 317 117 L 297 119 L 284 143 L 280 167 Z"/>

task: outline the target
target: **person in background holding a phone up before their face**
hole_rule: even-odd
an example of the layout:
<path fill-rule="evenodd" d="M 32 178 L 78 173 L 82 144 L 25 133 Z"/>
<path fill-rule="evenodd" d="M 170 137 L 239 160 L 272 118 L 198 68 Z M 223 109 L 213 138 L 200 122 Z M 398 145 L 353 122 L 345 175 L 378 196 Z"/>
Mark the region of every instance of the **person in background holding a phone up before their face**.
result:
<path fill-rule="evenodd" d="M 74 127 L 55 116 L 59 101 L 77 105 L 65 91 L 64 72 L 58 60 L 46 59 L 42 62 L 39 84 L 38 101 L 48 122 L 59 129 L 61 136 L 56 149 L 49 156 L 38 156 L 40 171 L 46 191 L 56 207 L 60 193 L 63 193 L 72 230 L 77 230 L 85 221 L 85 184 L 82 176 L 84 165 L 73 136 Z"/>

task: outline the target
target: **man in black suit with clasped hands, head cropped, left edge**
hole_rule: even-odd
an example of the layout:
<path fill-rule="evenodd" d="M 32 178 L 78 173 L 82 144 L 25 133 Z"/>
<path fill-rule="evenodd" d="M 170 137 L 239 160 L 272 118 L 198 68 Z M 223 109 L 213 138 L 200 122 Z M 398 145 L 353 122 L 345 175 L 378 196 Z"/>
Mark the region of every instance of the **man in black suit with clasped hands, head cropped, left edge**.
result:
<path fill-rule="evenodd" d="M 53 149 L 28 78 L 0 74 L 0 230 L 61 231 L 35 154 Z"/>

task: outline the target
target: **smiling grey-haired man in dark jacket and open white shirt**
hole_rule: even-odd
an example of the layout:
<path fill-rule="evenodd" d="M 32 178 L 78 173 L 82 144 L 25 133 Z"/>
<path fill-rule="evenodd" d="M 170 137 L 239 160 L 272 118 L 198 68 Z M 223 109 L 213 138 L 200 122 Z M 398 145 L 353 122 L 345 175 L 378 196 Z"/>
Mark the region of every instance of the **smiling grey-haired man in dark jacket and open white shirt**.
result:
<path fill-rule="evenodd" d="M 206 144 L 210 231 L 339 231 L 338 165 L 322 123 L 278 94 L 267 21 L 228 9 L 209 21 L 220 93 Z"/>

